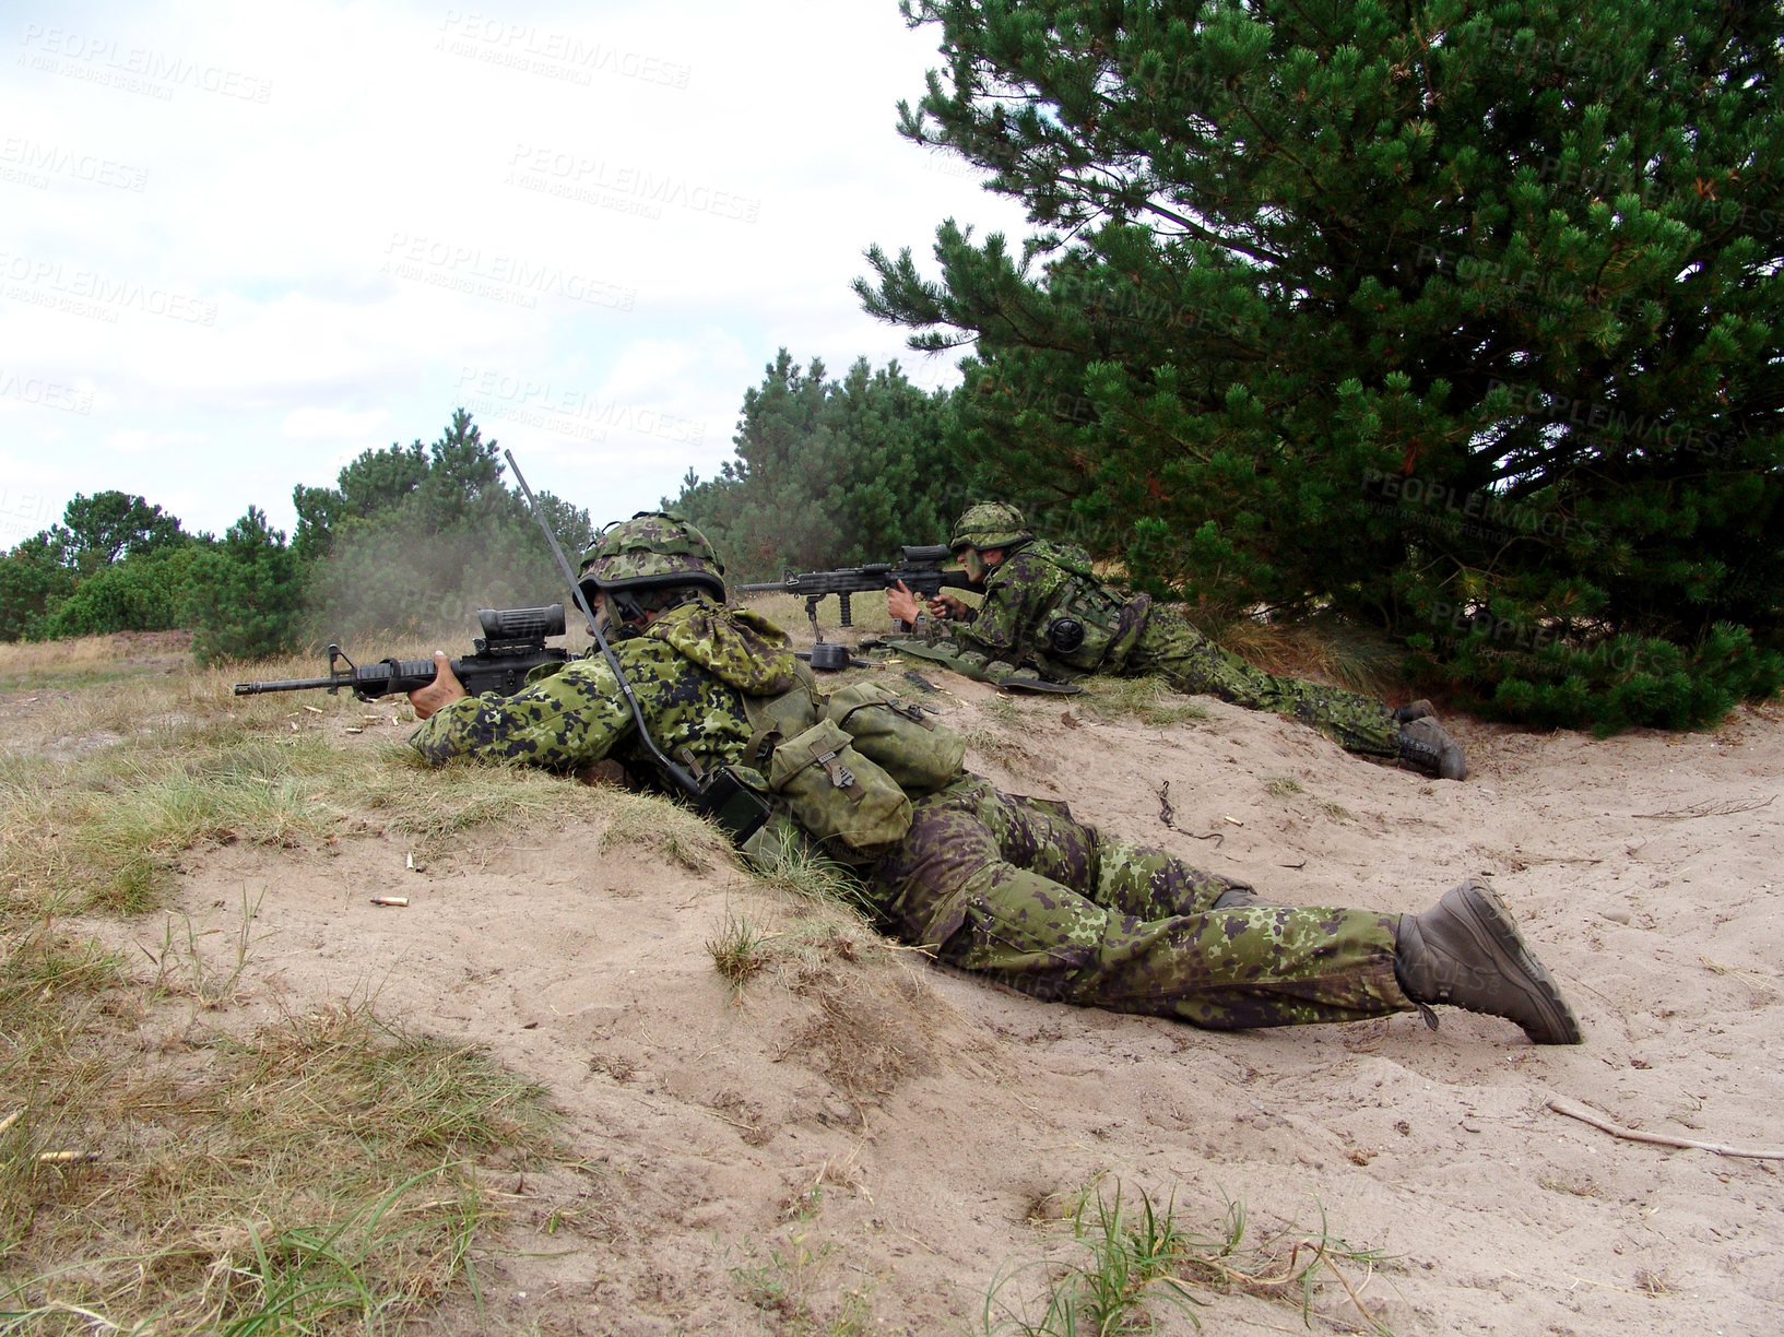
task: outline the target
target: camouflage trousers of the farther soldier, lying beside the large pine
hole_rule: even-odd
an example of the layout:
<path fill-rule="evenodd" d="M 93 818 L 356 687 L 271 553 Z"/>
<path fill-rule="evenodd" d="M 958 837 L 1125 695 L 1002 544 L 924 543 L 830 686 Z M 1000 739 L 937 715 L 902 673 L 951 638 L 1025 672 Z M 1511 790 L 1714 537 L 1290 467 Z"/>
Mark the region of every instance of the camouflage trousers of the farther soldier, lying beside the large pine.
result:
<path fill-rule="evenodd" d="M 1204 692 L 1235 706 L 1274 710 L 1311 724 L 1347 752 L 1400 754 L 1400 726 L 1374 697 L 1340 686 L 1302 683 L 1252 668 L 1242 658 L 1163 610 L 1156 610 L 1135 645 L 1126 676 L 1163 674 L 1179 692 Z"/>

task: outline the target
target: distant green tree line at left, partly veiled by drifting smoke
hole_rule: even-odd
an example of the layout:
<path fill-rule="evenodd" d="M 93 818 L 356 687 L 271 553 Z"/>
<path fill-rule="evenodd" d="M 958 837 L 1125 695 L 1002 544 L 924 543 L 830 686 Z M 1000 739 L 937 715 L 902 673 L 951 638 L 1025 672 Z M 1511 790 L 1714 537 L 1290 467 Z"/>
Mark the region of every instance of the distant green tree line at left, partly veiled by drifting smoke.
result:
<path fill-rule="evenodd" d="M 560 601 L 544 535 L 503 471 L 458 410 L 432 446 L 368 449 L 334 487 L 298 487 L 289 542 L 259 506 L 216 538 L 139 496 L 77 496 L 59 524 L 0 556 L 0 640 L 189 627 L 200 660 L 246 660 Z M 539 501 L 582 551 L 589 513 Z"/>

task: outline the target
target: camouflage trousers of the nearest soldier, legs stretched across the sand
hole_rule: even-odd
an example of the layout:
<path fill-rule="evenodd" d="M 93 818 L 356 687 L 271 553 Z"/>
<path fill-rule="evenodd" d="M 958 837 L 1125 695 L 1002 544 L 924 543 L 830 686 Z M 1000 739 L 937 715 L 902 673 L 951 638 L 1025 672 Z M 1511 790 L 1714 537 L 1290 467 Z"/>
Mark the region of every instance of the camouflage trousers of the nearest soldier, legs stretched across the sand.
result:
<path fill-rule="evenodd" d="M 1397 915 L 1215 909 L 1235 888 L 1249 890 L 976 775 L 919 799 L 869 879 L 892 932 L 1047 1002 L 1217 1030 L 1413 1007 L 1393 975 Z"/>

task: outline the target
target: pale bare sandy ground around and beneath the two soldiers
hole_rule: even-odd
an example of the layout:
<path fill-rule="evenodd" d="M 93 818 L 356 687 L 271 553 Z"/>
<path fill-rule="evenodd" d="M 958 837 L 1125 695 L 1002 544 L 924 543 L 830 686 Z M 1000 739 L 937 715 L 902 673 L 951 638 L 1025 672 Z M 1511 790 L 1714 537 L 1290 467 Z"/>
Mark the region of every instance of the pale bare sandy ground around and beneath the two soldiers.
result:
<path fill-rule="evenodd" d="M 1436 1034 L 1416 1014 L 1213 1034 L 840 941 L 739 998 L 705 943 L 728 915 L 796 932 L 797 907 L 723 859 L 603 856 L 589 829 L 483 834 L 417 872 L 382 840 L 200 852 L 175 913 L 228 925 L 259 904 L 250 1011 L 369 997 L 549 1087 L 582 1161 L 498 1184 L 496 1330 L 969 1330 L 994 1278 L 1038 1289 L 1022 1264 L 1060 1253 L 1058 1216 L 1104 1177 L 1199 1232 L 1229 1202 L 1261 1235 L 1324 1212 L 1392 1255 L 1367 1285 L 1345 1275 L 1399 1333 L 1784 1332 L 1777 1162 L 1547 1109 L 1784 1148 L 1784 715 L 1607 742 L 1459 722 L 1474 774 L 1450 784 L 1215 701 L 1152 729 L 1019 699 L 994 726 L 985 688 L 931 677 L 951 722 L 995 733 L 970 768 L 1283 902 L 1415 911 L 1490 875 L 1586 1043 L 1534 1048 L 1452 1009 Z M 409 907 L 369 904 L 385 893 Z M 161 916 L 132 931 L 159 939 Z M 1211 1333 L 1308 1330 L 1279 1300 L 1206 1298 Z M 462 1317 L 441 1330 L 476 1330 Z M 1358 1326 L 1327 1276 L 1311 1330 Z"/>

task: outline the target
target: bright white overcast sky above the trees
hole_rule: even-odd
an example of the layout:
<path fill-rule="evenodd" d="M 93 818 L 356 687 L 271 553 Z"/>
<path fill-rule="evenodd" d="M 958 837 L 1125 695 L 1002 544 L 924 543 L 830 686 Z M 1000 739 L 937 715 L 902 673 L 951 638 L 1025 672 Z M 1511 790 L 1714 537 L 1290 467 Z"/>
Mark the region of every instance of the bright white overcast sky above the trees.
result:
<path fill-rule="evenodd" d="M 849 280 L 944 217 L 896 0 L 0 0 L 0 547 L 77 492 L 221 533 L 451 410 L 596 521 L 731 458 L 787 346 L 903 348 Z"/>

